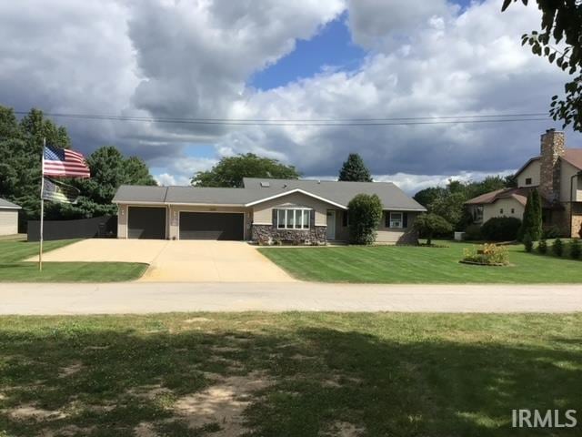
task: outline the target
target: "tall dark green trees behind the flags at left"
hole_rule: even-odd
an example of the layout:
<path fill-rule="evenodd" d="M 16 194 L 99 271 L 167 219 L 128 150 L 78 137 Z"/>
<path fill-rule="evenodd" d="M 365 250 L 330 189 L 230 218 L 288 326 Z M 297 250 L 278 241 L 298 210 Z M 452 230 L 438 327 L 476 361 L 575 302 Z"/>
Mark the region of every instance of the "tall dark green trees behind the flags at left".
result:
<path fill-rule="evenodd" d="M 43 138 L 55 147 L 71 147 L 66 128 L 32 109 L 18 120 L 14 110 L 0 106 L 0 197 L 23 209 L 21 221 L 40 217 L 40 180 Z M 45 202 L 46 219 L 78 219 L 115 213 L 111 200 L 121 184 L 156 185 L 146 163 L 125 158 L 115 147 L 95 150 L 87 157 L 90 179 L 67 179 L 81 190 L 76 205 Z"/>

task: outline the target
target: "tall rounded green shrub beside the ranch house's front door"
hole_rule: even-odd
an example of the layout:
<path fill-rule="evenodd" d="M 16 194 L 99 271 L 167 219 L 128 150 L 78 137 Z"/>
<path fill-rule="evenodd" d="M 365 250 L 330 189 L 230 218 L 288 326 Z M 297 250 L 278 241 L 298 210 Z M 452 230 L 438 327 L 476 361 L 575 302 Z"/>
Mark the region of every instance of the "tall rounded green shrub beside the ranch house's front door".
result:
<path fill-rule="evenodd" d="M 349 239 L 352 244 L 372 244 L 382 219 L 382 202 L 376 194 L 358 194 L 347 205 Z"/>

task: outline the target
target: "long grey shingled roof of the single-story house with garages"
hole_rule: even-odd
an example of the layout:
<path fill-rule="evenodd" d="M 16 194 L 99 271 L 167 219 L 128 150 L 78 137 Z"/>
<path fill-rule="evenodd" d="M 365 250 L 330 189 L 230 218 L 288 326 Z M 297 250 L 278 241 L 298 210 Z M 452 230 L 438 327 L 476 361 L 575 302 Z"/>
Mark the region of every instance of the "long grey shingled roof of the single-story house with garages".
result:
<path fill-rule="evenodd" d="M 297 191 L 345 208 L 356 194 L 376 194 L 385 209 L 426 210 L 391 182 L 338 182 L 245 178 L 244 188 L 145 187 L 122 185 L 113 203 L 247 206 Z"/>

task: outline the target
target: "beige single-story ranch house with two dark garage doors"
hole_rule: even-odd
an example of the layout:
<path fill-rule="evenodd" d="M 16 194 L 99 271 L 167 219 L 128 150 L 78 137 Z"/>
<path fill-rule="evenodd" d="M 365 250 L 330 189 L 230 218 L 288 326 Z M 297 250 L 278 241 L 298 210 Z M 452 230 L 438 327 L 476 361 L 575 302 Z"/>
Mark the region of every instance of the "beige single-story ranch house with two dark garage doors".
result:
<path fill-rule="evenodd" d="M 384 214 L 377 242 L 415 242 L 420 204 L 388 182 L 245 178 L 244 188 L 121 186 L 117 237 L 234 239 L 323 244 L 349 239 L 347 204 L 376 194 Z"/>

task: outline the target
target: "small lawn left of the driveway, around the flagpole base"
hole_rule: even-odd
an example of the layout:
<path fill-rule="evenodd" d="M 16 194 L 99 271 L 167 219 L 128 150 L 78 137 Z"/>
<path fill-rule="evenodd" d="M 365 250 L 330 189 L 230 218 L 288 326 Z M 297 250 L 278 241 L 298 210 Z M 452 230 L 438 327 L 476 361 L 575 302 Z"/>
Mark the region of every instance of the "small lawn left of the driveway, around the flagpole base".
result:
<path fill-rule="evenodd" d="M 45 241 L 44 252 L 78 241 Z M 115 282 L 141 277 L 147 264 L 137 262 L 25 262 L 38 254 L 38 243 L 0 241 L 0 282 Z"/>

